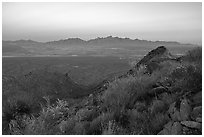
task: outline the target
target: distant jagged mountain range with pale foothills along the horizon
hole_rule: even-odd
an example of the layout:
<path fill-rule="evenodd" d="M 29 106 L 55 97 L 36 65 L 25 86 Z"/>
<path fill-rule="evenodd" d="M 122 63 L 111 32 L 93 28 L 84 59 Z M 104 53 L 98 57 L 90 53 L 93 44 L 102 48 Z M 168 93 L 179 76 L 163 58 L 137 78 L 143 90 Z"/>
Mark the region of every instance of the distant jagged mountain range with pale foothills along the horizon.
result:
<path fill-rule="evenodd" d="M 3 56 L 133 56 L 144 55 L 158 46 L 165 46 L 173 53 L 181 54 L 198 46 L 174 41 L 148 41 L 119 37 L 98 37 L 82 40 L 68 38 L 58 41 L 37 42 L 33 40 L 2 41 Z"/>

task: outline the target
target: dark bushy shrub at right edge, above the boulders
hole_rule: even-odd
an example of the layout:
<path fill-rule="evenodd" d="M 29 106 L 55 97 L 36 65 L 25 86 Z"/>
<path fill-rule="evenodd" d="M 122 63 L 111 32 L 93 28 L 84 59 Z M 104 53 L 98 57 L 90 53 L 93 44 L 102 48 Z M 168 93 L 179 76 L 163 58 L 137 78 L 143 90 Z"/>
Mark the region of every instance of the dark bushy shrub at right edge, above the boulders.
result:
<path fill-rule="evenodd" d="M 196 60 L 198 61 L 198 59 Z M 169 86 L 177 92 L 181 92 L 184 90 L 195 92 L 201 91 L 202 89 L 201 63 L 198 63 L 194 60 L 194 62 L 181 62 L 181 63 L 165 62 L 161 63 L 161 65 L 163 67 L 158 73 L 164 74 L 161 76 L 161 82 L 163 85 Z"/>

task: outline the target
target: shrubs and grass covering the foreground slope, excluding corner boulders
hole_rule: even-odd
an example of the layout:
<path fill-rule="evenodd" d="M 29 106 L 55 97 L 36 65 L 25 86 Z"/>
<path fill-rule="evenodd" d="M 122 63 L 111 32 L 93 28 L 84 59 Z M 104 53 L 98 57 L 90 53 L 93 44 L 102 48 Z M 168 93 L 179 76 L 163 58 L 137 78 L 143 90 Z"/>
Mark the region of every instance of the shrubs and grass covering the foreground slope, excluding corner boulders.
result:
<path fill-rule="evenodd" d="M 180 62 L 160 63 L 151 74 L 140 66 L 96 94 L 83 88 L 73 93 L 70 81 L 47 71 L 11 80 L 12 88 L 3 85 L 3 134 L 158 134 L 170 121 L 173 102 L 202 91 L 201 62 L 196 48 Z M 79 92 L 83 96 L 73 97 Z"/>

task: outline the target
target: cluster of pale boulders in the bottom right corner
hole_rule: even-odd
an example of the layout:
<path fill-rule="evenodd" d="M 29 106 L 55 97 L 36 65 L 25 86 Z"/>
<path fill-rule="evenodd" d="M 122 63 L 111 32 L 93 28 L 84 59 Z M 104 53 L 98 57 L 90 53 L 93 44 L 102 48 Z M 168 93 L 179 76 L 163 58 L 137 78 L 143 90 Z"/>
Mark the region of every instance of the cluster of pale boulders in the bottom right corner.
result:
<path fill-rule="evenodd" d="M 192 109 L 189 100 L 185 98 L 172 103 L 168 110 L 171 120 L 164 126 L 163 130 L 161 130 L 158 135 L 201 134 L 201 113 L 201 106 Z"/>

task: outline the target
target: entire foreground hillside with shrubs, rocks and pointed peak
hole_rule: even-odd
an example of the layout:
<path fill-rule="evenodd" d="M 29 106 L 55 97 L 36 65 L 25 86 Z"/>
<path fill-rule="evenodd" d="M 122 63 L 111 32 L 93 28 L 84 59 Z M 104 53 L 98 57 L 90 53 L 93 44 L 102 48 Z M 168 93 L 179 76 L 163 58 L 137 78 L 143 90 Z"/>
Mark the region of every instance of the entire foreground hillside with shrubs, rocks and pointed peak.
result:
<path fill-rule="evenodd" d="M 9 97 L 3 92 L 3 134 L 202 134 L 200 47 L 180 57 L 164 46 L 157 47 L 127 73 L 104 79 L 89 89 L 76 84 L 68 75 L 40 71 L 25 77 L 24 88 L 22 85 L 19 86 L 21 89 L 14 88 L 15 92 L 22 94 Z M 9 79 L 14 78 L 4 78 L 5 81 Z M 41 84 L 33 89 L 39 92 L 25 94 L 25 88 L 31 88 L 39 79 Z M 59 93 L 63 98 L 38 94 L 43 91 L 44 95 L 55 95 L 48 92 L 50 86 L 50 89 L 56 89 L 54 91 L 68 87 Z M 72 93 L 66 91 L 72 86 L 78 91 L 86 89 L 86 94 L 78 98 L 69 96 Z M 39 98 L 44 103 L 33 113 L 36 107 L 33 102 L 39 102 Z"/>

